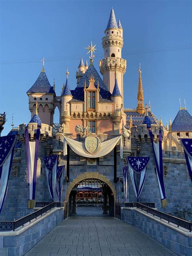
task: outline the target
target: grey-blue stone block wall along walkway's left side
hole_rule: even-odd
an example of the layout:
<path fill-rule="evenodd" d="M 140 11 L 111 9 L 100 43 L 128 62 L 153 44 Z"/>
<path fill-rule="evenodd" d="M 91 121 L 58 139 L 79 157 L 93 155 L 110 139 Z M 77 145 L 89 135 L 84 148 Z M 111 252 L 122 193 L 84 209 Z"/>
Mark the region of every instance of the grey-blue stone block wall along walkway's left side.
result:
<path fill-rule="evenodd" d="M 0 255 L 1 256 L 23 256 L 38 241 L 47 235 L 55 226 L 63 220 L 63 208 L 53 208 L 44 214 L 17 228 L 17 231 L 0 232 Z"/>

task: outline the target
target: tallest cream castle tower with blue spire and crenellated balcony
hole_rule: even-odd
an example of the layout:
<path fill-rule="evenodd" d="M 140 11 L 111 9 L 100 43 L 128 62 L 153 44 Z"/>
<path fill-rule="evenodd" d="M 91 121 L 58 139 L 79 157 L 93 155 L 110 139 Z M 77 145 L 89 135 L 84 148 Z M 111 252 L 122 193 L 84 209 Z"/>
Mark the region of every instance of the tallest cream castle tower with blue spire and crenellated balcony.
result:
<path fill-rule="evenodd" d="M 113 9 L 109 16 L 105 36 L 102 38 L 102 47 L 104 49 L 104 59 L 100 60 L 99 63 L 100 73 L 103 75 L 103 81 L 112 94 L 115 85 L 116 68 L 123 104 L 123 75 L 126 72 L 126 60 L 122 59 L 123 28 L 120 21 L 117 24 Z"/>

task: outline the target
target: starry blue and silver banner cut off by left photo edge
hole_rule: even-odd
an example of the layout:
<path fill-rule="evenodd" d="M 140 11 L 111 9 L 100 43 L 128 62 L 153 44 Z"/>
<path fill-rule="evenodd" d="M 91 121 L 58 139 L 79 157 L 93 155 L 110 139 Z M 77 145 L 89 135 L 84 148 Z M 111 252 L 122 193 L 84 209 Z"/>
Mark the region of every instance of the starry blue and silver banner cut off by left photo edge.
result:
<path fill-rule="evenodd" d="M 0 137 L 0 213 L 6 198 L 16 141 L 15 135 Z"/>

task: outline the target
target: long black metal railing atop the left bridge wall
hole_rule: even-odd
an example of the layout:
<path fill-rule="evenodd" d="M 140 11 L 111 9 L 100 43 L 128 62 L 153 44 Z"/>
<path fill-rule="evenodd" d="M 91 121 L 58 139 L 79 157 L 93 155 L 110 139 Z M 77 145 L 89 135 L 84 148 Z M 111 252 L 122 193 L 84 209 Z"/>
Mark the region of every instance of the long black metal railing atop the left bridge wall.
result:
<path fill-rule="evenodd" d="M 27 222 L 31 222 L 31 220 L 36 219 L 38 216 L 42 215 L 43 213 L 46 213 L 47 211 L 51 210 L 54 207 L 60 207 L 61 203 L 53 202 L 49 203 L 49 205 L 44 206 L 43 208 L 34 211 L 18 220 L 14 221 L 0 221 L 0 230 L 6 231 L 6 230 L 15 230 L 16 228 L 19 228 L 20 226 L 23 226 Z"/>

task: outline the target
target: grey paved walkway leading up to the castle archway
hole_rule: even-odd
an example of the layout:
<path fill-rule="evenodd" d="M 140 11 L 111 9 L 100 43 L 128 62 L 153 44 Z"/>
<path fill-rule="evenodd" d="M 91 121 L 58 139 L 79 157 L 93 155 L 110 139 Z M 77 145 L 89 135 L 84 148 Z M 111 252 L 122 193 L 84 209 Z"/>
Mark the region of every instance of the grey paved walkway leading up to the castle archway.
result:
<path fill-rule="evenodd" d="M 112 217 L 69 217 L 26 256 L 176 256 L 139 229 Z"/>

